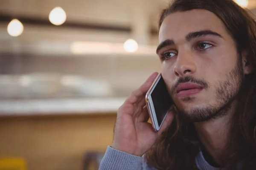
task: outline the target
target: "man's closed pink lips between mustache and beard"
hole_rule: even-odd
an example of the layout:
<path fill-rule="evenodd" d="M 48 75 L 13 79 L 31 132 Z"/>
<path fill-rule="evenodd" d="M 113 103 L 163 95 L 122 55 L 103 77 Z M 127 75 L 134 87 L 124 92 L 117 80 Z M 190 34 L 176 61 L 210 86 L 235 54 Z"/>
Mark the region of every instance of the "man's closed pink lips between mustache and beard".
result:
<path fill-rule="evenodd" d="M 193 94 L 199 93 L 202 89 L 203 87 L 198 84 L 187 82 L 178 85 L 176 93 L 180 97 L 188 97 Z"/>

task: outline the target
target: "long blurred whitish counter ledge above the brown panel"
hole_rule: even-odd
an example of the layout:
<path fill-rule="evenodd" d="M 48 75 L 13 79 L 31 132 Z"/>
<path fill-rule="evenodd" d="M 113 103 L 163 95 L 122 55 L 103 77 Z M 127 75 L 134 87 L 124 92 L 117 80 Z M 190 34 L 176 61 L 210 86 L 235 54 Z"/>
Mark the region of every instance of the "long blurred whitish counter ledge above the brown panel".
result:
<path fill-rule="evenodd" d="M 0 116 L 114 113 L 125 98 L 1 100 Z"/>

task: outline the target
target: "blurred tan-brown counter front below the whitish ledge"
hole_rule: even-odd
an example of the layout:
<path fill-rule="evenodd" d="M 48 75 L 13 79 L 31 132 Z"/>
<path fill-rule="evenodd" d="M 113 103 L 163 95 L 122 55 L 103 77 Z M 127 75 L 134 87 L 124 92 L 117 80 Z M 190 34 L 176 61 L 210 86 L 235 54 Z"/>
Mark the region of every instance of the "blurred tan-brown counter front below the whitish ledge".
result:
<path fill-rule="evenodd" d="M 29 170 L 81 170 L 87 151 L 105 152 L 116 114 L 0 118 L 0 157 L 23 157 Z"/>

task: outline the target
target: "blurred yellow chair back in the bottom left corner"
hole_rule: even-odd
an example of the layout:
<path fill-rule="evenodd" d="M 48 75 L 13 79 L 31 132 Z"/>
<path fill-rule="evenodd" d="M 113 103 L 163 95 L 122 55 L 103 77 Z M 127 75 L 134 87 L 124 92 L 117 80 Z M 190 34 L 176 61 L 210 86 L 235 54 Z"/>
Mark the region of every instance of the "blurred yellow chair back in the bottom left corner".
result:
<path fill-rule="evenodd" d="M 22 158 L 0 158 L 0 170 L 27 170 Z"/>

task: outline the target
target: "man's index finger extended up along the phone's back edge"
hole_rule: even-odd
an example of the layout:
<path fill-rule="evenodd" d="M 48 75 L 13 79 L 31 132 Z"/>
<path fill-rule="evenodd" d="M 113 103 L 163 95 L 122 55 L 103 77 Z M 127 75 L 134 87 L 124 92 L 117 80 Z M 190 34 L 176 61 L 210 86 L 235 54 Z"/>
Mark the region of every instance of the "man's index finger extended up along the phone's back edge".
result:
<path fill-rule="evenodd" d="M 137 90 L 135 90 L 131 93 L 131 95 L 128 97 L 128 99 L 126 99 L 125 102 L 127 102 L 129 104 L 134 104 L 138 100 L 140 100 L 141 97 L 143 97 L 147 93 L 148 89 L 153 84 L 157 75 L 158 75 L 157 72 L 154 72 L 153 74 L 151 74 L 151 76 L 148 77 L 148 79 L 143 83 L 143 85 L 140 86 L 140 88 L 138 88 Z"/>

